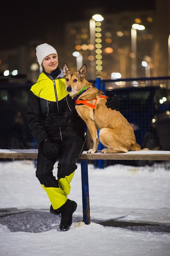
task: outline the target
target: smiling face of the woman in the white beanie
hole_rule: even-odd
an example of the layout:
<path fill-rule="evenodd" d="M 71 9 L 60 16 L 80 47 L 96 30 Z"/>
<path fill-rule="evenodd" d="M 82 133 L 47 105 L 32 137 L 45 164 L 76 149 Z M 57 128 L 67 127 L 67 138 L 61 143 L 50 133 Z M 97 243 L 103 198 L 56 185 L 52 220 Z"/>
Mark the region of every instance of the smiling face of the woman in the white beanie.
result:
<path fill-rule="evenodd" d="M 58 67 L 58 57 L 56 54 L 50 54 L 44 58 L 42 61 L 42 67 L 44 71 L 50 74 L 52 71 L 56 70 Z"/>

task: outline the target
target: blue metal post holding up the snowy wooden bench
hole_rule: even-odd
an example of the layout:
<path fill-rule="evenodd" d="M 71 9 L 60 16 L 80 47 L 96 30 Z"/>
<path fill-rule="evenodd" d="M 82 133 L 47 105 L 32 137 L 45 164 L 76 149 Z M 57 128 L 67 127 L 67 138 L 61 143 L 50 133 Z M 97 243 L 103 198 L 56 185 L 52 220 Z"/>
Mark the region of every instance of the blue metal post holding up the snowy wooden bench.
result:
<path fill-rule="evenodd" d="M 89 191 L 88 191 L 88 161 L 81 161 L 82 172 L 82 199 L 83 199 L 83 220 L 85 224 L 91 223 L 90 218 L 90 204 L 89 204 Z"/>

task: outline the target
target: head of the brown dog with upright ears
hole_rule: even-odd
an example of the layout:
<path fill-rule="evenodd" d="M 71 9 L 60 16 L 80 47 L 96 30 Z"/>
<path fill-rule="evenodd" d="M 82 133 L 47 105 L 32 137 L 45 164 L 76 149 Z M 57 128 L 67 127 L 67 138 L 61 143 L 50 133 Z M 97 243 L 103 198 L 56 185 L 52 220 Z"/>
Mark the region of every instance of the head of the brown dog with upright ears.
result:
<path fill-rule="evenodd" d="M 79 71 L 70 71 L 64 64 L 63 74 L 66 82 L 66 91 L 71 97 L 77 95 L 84 88 L 84 76 L 86 74 L 86 65 L 83 65 Z"/>

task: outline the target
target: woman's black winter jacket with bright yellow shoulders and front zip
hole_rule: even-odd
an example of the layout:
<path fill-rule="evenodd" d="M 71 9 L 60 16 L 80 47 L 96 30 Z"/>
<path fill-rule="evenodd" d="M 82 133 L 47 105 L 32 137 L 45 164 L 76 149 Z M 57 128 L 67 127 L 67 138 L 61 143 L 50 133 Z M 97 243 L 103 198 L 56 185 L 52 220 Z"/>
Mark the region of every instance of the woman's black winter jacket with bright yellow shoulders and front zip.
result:
<path fill-rule="evenodd" d="M 44 139 L 62 141 L 77 134 L 84 136 L 84 121 L 66 92 L 62 70 L 55 79 L 44 72 L 40 74 L 29 92 L 26 118 L 39 145 Z"/>

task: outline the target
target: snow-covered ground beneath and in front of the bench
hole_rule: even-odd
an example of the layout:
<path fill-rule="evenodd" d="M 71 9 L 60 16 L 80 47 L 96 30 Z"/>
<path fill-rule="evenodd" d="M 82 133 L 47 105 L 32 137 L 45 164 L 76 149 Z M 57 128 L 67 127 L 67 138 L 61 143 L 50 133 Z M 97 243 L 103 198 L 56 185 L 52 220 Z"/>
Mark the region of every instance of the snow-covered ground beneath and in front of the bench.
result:
<path fill-rule="evenodd" d="M 152 167 L 117 164 L 104 169 L 89 164 L 90 215 L 94 221 L 85 225 L 81 167 L 79 163 L 77 166 L 68 197 L 77 202 L 77 210 L 73 213 L 71 229 L 62 232 L 59 216 L 49 213 L 50 202 L 35 177 L 34 161 L 0 162 L 0 219 L 5 219 L 2 217 L 6 210 L 15 213 L 28 209 L 53 218 L 50 230 L 37 232 L 22 229 L 14 232 L 7 223 L 8 219 L 5 223 L 1 221 L 0 256 L 170 256 L 170 233 L 149 228 L 151 224 L 170 227 L 170 168 L 164 168 L 164 163 Z M 57 163 L 54 175 L 56 171 Z M 12 214 L 10 221 L 15 216 Z M 36 214 L 31 216 L 32 225 L 40 223 Z M 139 223 L 139 226 L 148 223 L 148 227 L 130 230 L 121 225 L 99 224 L 108 220 L 119 224 Z M 17 221 L 20 226 L 20 219 Z M 29 229 L 29 225 L 26 228 Z"/>

